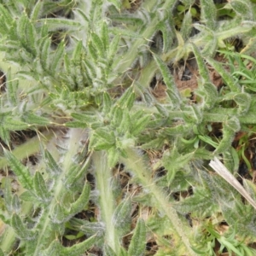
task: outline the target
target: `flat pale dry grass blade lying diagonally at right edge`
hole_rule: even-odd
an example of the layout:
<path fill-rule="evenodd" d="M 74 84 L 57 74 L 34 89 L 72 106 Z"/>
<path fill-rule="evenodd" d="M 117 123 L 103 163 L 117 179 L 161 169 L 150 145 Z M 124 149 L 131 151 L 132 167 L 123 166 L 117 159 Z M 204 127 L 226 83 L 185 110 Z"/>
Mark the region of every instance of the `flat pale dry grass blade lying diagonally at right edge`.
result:
<path fill-rule="evenodd" d="M 224 164 L 218 160 L 217 157 L 214 157 L 214 160 L 211 160 L 209 166 L 218 173 L 221 177 L 223 177 L 231 186 L 233 186 L 251 205 L 256 209 L 256 202 L 253 201 L 253 198 L 247 193 L 247 191 L 241 186 L 236 180 L 229 170 L 224 166 Z"/>

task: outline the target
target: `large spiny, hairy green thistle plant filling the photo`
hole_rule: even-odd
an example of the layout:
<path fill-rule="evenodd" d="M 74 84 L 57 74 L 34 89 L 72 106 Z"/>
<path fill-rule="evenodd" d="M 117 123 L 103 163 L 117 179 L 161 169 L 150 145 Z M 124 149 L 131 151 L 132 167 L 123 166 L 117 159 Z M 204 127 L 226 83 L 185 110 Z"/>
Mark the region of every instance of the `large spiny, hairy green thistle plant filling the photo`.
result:
<path fill-rule="evenodd" d="M 223 6 L 232 15 L 220 19 L 214 1 L 201 0 L 193 23 L 195 1 L 183 0 L 183 21 L 175 24 L 178 2 L 0 1 L 0 255 L 147 255 L 152 237 L 156 255 L 197 255 L 209 241 L 198 239 L 206 236 L 193 219 L 205 224 L 217 215 L 214 229 L 225 221 L 236 236 L 225 239 L 209 224 L 211 237 L 230 251 L 253 252 L 253 207 L 207 163 L 222 157 L 236 176 L 233 139 L 255 125 L 253 91 L 214 60 L 230 38 L 253 53 L 255 3 L 232 0 Z M 196 102 L 180 94 L 170 70 L 191 56 Z M 212 84 L 208 66 L 224 90 Z M 153 81 L 164 84 L 161 101 Z M 230 101 L 235 108 L 226 108 Z M 210 135 L 216 123 L 220 137 Z M 27 130 L 37 136 L 15 147 L 13 135 Z M 254 184 L 244 186 L 255 199 Z M 189 189 L 193 195 L 175 200 Z"/>

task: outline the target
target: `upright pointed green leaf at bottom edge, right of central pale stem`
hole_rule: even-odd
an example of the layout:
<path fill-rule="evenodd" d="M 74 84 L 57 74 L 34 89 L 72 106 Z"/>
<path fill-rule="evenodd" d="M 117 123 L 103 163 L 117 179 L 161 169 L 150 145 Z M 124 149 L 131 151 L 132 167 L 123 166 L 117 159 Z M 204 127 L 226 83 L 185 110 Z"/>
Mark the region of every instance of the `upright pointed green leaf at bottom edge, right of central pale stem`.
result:
<path fill-rule="evenodd" d="M 146 225 L 143 218 L 138 219 L 128 248 L 129 256 L 143 256 L 146 247 Z"/>

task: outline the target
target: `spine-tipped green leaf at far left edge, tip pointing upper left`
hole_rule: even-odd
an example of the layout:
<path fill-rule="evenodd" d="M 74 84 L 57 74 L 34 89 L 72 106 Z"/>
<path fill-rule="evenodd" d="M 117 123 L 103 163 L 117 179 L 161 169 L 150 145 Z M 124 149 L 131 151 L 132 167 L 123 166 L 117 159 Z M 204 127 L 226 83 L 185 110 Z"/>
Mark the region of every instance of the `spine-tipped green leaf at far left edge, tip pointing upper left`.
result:
<path fill-rule="evenodd" d="M 28 190 L 33 190 L 32 177 L 26 166 L 23 166 L 20 163 L 20 160 L 18 160 L 15 155 L 10 153 L 8 150 L 3 149 L 3 151 L 5 157 L 9 161 L 9 166 L 11 167 L 12 171 L 15 172 L 22 186 Z"/>

